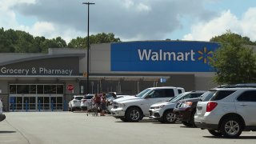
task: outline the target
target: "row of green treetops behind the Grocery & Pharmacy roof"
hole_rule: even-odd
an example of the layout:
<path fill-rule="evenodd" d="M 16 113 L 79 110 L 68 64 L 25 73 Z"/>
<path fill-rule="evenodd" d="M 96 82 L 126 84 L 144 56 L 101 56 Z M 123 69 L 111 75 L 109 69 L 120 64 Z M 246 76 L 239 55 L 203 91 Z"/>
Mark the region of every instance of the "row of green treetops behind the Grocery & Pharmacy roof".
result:
<path fill-rule="evenodd" d="M 102 33 L 90 36 L 90 44 L 121 42 L 114 38 L 114 34 Z M 0 53 L 47 53 L 49 48 L 86 48 L 87 38 L 72 39 L 69 44 L 61 37 L 47 39 L 45 37 L 34 37 L 21 30 L 0 29 Z"/>

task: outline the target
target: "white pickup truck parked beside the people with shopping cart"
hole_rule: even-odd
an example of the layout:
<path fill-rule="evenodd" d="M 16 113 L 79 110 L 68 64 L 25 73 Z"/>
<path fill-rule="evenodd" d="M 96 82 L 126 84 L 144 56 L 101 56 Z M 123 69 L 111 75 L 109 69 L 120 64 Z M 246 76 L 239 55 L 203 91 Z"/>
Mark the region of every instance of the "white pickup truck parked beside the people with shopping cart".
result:
<path fill-rule="evenodd" d="M 151 87 L 134 97 L 118 98 L 113 102 L 111 114 L 124 122 L 138 122 L 149 116 L 150 106 L 165 102 L 168 99 L 185 92 L 182 87 L 164 86 Z"/>

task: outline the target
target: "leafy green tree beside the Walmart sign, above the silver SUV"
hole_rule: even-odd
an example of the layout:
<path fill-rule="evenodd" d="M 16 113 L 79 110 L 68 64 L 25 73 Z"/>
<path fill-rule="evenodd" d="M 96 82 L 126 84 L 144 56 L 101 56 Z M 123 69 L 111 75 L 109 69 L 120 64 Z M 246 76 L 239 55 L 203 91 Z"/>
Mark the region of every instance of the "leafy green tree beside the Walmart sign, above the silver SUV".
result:
<path fill-rule="evenodd" d="M 250 38 L 227 31 L 214 37 L 211 42 L 221 42 L 221 47 L 214 52 L 214 81 L 219 84 L 256 82 L 256 55 L 247 45 L 254 44 Z"/>

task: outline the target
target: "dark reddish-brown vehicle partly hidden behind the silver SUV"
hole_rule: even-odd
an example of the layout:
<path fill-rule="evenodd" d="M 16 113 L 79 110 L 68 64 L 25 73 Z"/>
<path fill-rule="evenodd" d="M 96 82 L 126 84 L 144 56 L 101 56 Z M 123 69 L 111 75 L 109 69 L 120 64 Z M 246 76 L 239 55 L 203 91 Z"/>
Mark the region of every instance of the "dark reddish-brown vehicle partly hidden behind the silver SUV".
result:
<path fill-rule="evenodd" d="M 209 100 L 209 92 L 202 94 L 198 98 L 189 98 L 179 100 L 174 107 L 174 114 L 178 121 L 181 121 L 185 126 L 195 126 L 194 114 L 199 100 Z"/>

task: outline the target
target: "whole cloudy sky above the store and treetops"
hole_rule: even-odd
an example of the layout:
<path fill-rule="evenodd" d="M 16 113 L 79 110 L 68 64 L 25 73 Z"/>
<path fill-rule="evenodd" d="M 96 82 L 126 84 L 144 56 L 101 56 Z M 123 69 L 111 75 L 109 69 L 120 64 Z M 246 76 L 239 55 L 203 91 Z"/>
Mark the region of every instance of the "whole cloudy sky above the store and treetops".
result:
<path fill-rule="evenodd" d="M 0 28 L 70 42 L 114 33 L 122 42 L 209 41 L 227 30 L 256 41 L 255 0 L 0 0 Z"/>

